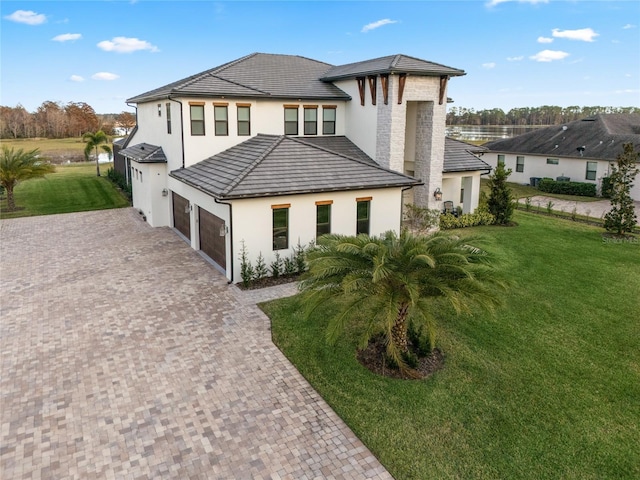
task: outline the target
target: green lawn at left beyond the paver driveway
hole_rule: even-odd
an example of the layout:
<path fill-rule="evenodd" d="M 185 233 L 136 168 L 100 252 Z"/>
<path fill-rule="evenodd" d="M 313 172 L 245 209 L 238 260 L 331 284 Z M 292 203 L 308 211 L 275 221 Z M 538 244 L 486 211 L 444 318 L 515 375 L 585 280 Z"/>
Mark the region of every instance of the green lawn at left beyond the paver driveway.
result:
<path fill-rule="evenodd" d="M 102 176 L 97 177 L 95 163 L 57 165 L 55 173 L 18 184 L 14 193 L 19 210 L 7 211 L 5 193 L 0 200 L 0 218 L 126 207 L 129 201 L 106 178 L 111 166 L 100 164 Z"/>

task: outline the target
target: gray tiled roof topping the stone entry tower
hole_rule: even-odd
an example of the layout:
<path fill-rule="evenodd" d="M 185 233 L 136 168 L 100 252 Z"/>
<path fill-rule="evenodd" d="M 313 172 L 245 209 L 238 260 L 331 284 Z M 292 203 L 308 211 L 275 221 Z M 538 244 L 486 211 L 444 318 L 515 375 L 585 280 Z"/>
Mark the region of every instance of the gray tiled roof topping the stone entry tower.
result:
<path fill-rule="evenodd" d="M 333 81 L 343 78 L 391 73 L 407 73 L 420 76 L 447 75 L 450 77 L 466 75 L 464 70 L 447 67 L 439 63 L 429 62 L 407 55 L 388 55 L 363 62 L 332 67 L 322 76 L 322 80 Z"/>

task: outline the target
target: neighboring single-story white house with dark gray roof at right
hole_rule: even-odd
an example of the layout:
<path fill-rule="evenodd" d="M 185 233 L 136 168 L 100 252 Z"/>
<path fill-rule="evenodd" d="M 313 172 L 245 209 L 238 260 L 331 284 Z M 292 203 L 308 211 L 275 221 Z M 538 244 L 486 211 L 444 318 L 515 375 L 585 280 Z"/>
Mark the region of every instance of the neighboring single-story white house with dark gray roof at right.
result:
<path fill-rule="evenodd" d="M 495 140 L 484 145 L 490 153 L 482 159 L 492 167 L 504 162 L 512 169 L 512 182 L 564 178 L 595 183 L 600 191 L 602 179 L 610 174 L 611 164 L 625 143 L 640 150 L 639 114 L 600 114 Z M 636 178 L 631 196 L 640 200 L 640 178 Z"/>

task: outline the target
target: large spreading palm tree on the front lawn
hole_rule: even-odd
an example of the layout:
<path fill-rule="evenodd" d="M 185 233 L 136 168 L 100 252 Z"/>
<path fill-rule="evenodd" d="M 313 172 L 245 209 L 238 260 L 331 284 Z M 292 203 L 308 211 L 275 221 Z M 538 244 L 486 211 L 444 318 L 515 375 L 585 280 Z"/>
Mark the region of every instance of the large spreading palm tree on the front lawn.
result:
<path fill-rule="evenodd" d="M 337 301 L 327 329 L 330 342 L 348 324 L 362 332 L 362 348 L 382 334 L 388 357 L 413 376 L 405 362 L 408 327 L 424 328 L 433 348 L 438 297 L 459 313 L 499 304 L 504 284 L 494 274 L 494 261 L 469 242 L 441 232 L 322 236 L 308 254 L 309 272 L 301 283 L 307 315 L 327 300 Z"/>

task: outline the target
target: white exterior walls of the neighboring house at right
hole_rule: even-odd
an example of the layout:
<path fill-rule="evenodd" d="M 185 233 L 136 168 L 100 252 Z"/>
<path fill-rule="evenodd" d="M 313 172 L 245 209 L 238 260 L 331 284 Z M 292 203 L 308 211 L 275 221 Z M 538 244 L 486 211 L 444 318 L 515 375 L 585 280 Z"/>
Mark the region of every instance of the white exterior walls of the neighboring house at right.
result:
<path fill-rule="evenodd" d="M 482 156 L 482 159 L 495 168 L 498 164 L 498 154 L 498 152 L 487 152 Z M 610 165 L 614 163 L 614 161 L 610 160 L 586 157 L 567 158 L 552 157 L 551 155 L 517 155 L 511 153 L 500 155 L 504 155 L 505 166 L 512 170 L 511 175 L 509 175 L 510 182 L 528 184 L 531 177 L 548 177 L 555 180 L 556 177 L 565 176 L 569 177 L 572 182 L 595 183 L 598 186 L 598 193 L 600 193 L 602 177 L 609 175 Z M 524 172 L 516 172 L 516 157 L 518 156 L 524 157 Z M 548 165 L 547 158 L 558 158 L 558 165 Z M 587 162 L 598 162 L 596 180 L 586 179 Z M 636 185 L 631 189 L 631 197 L 640 201 L 640 178 L 636 177 L 635 183 Z"/>

